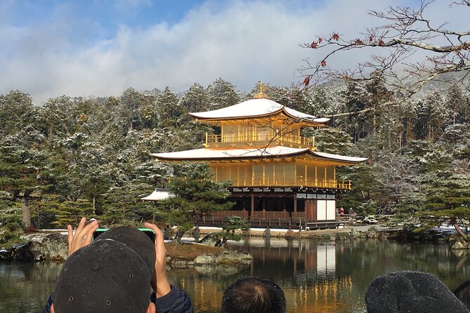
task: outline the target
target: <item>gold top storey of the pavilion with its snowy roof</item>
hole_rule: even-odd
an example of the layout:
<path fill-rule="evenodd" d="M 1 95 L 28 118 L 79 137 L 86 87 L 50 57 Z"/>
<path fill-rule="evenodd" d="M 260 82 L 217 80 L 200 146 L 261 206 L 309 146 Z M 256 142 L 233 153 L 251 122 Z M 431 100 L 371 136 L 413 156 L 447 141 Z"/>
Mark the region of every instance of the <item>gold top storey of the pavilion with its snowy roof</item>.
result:
<path fill-rule="evenodd" d="M 208 148 L 280 145 L 315 149 L 315 138 L 301 136 L 301 128 L 320 128 L 329 120 L 298 112 L 266 98 L 190 114 L 197 121 L 221 129 L 220 134 L 206 133 L 204 147 Z"/>

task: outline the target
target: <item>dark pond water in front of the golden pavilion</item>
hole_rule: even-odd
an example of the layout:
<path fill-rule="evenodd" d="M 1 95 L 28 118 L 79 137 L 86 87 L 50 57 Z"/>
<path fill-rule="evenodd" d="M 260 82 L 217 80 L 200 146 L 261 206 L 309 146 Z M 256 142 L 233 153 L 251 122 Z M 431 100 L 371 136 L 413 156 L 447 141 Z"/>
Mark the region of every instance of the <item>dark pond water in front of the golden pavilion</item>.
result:
<path fill-rule="evenodd" d="M 223 290 L 241 275 L 278 281 L 285 291 L 287 312 L 365 312 L 370 281 L 402 269 L 431 272 L 454 290 L 470 279 L 466 251 L 450 251 L 446 244 L 403 244 L 393 241 L 337 241 L 311 239 L 247 239 L 230 249 L 249 251 L 251 266 L 234 273 L 218 267 L 169 272 L 172 284 L 188 292 L 195 312 L 220 311 Z M 61 268 L 60 263 L 0 262 L 0 312 L 41 312 Z"/>

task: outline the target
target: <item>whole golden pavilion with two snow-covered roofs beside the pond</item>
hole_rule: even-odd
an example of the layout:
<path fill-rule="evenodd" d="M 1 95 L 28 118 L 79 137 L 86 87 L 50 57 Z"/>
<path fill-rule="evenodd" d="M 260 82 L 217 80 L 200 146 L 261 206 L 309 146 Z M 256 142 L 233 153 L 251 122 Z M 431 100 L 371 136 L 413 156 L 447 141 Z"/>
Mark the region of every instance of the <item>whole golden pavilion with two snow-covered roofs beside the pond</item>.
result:
<path fill-rule="evenodd" d="M 233 209 L 200 225 L 217 225 L 226 215 L 247 218 L 252 227 L 334 225 L 335 195 L 351 189 L 350 180 L 337 180 L 336 167 L 367 160 L 316 151 L 315 138 L 302 137 L 301 129 L 324 127 L 329 119 L 280 105 L 262 90 L 237 105 L 190 115 L 221 133 L 206 134 L 202 149 L 151 155 L 159 161 L 205 161 L 214 180 L 232 182 Z"/>

